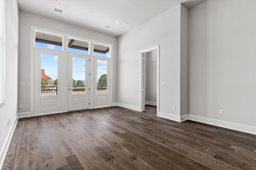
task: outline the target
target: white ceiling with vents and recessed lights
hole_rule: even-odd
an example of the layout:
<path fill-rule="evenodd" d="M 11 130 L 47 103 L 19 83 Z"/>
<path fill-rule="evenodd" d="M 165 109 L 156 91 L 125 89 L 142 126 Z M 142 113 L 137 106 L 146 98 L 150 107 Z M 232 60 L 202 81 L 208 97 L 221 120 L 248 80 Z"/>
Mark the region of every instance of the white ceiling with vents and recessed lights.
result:
<path fill-rule="evenodd" d="M 120 36 L 182 2 L 187 8 L 205 0 L 17 0 L 20 10 Z M 59 8 L 63 13 L 54 11 Z M 92 12 L 92 13 L 90 13 Z M 120 21 L 116 24 L 115 21 Z M 132 25 L 129 28 L 122 24 Z M 104 25 L 111 25 L 106 28 Z"/>

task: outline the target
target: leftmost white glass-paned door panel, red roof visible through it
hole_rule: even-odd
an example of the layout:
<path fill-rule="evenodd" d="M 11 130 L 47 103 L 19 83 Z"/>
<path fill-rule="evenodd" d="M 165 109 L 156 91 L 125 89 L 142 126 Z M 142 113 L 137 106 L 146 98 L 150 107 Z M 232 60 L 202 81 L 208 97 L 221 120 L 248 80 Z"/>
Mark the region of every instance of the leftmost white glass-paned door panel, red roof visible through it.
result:
<path fill-rule="evenodd" d="M 35 48 L 35 115 L 62 112 L 62 51 Z"/>

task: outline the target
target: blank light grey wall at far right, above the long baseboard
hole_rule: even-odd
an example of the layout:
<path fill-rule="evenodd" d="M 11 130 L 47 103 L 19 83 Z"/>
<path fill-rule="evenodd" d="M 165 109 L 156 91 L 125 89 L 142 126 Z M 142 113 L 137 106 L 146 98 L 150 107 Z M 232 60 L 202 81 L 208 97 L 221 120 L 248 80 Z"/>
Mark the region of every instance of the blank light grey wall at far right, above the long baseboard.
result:
<path fill-rule="evenodd" d="M 190 115 L 255 129 L 255 9 L 255 0 L 208 0 L 189 10 Z"/>

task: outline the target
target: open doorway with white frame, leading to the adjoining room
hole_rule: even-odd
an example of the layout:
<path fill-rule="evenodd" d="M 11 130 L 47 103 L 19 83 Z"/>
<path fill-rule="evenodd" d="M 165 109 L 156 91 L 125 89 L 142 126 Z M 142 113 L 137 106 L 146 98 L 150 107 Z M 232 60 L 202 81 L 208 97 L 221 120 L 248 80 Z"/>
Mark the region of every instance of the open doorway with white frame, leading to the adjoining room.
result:
<path fill-rule="evenodd" d="M 140 110 L 158 115 L 159 46 L 140 51 L 141 104 Z"/>

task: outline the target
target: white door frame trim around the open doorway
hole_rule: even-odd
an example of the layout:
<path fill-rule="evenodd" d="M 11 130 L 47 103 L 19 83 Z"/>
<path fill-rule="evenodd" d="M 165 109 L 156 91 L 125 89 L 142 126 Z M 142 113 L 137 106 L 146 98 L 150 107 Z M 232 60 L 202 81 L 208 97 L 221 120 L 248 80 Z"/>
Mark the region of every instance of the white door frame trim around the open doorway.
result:
<path fill-rule="evenodd" d="M 150 51 L 157 50 L 157 95 L 156 95 L 156 115 L 158 116 L 159 113 L 159 45 L 155 47 L 151 47 L 148 49 L 144 49 L 140 51 L 140 111 L 144 111 L 143 105 L 145 102 L 144 98 L 144 78 L 143 78 L 143 72 L 144 72 L 144 53 L 148 53 Z"/>

